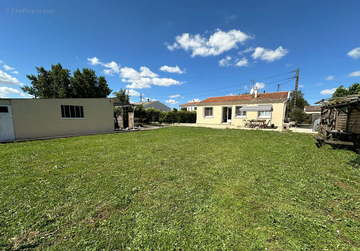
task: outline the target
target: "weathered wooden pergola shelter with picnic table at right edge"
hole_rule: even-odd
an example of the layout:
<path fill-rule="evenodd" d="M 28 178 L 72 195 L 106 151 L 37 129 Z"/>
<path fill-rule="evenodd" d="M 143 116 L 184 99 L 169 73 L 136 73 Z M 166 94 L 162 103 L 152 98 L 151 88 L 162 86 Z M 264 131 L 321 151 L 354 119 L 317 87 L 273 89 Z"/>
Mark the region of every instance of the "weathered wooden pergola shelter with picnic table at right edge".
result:
<path fill-rule="evenodd" d="M 321 101 L 319 101 L 321 102 Z M 360 145 L 360 93 L 323 102 L 319 134 L 320 148 L 328 144 Z"/>

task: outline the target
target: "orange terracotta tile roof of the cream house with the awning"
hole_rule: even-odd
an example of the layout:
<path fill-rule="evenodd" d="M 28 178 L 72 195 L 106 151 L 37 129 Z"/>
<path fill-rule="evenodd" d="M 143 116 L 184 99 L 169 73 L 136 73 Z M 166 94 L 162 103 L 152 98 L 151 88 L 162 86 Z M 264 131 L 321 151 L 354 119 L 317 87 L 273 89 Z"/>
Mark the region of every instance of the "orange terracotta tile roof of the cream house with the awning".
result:
<path fill-rule="evenodd" d="M 254 98 L 254 94 L 243 94 L 243 95 L 234 95 L 234 96 L 222 96 L 222 97 L 210 97 L 204 99 L 198 104 L 204 103 L 219 103 L 219 102 L 234 102 L 234 101 L 254 101 L 254 100 L 270 100 L 270 99 L 287 99 L 289 96 L 289 91 L 286 92 L 266 92 L 258 93 L 257 97 Z"/>

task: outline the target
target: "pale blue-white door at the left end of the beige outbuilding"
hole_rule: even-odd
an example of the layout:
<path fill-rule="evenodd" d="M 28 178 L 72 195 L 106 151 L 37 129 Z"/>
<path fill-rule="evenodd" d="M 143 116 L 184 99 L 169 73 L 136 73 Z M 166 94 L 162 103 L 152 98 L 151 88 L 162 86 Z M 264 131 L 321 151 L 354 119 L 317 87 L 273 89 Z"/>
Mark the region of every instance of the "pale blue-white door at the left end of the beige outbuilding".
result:
<path fill-rule="evenodd" d="M 15 129 L 11 104 L 0 104 L 0 141 L 14 139 Z"/>

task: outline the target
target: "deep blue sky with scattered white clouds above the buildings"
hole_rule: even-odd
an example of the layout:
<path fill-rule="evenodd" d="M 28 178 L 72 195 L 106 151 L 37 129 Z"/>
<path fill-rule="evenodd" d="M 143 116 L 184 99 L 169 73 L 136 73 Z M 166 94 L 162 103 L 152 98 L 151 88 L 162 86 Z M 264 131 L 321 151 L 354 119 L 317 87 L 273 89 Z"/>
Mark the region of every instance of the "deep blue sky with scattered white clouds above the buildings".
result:
<path fill-rule="evenodd" d="M 296 68 L 310 103 L 360 82 L 359 1 L 12 1 L 1 8 L 0 97 L 28 97 L 19 88 L 30 84 L 26 74 L 58 62 L 72 72 L 94 69 L 114 91 L 130 89 L 132 101 L 148 91 L 170 107 L 243 93 L 251 79 Z M 260 91 L 276 91 L 287 80 L 267 83 L 293 75 L 262 80 Z"/>

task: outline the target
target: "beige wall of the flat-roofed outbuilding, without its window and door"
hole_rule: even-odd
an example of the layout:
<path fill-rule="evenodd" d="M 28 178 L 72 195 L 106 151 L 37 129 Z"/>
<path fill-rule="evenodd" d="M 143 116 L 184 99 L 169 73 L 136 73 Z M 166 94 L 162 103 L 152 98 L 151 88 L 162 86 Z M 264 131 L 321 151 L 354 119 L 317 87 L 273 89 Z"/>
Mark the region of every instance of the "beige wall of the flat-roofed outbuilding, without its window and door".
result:
<path fill-rule="evenodd" d="M 6 100 L 0 100 L 4 103 Z M 10 99 L 16 139 L 114 131 L 108 98 Z M 61 118 L 61 105 L 84 107 L 85 118 Z"/>

